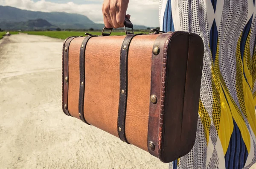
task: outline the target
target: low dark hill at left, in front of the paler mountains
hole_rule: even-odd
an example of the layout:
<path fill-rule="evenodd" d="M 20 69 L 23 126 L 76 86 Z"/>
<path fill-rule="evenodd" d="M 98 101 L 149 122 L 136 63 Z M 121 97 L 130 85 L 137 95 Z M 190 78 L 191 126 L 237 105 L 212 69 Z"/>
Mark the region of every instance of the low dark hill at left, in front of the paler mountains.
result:
<path fill-rule="evenodd" d="M 1 22 L 0 23 L 1 29 L 8 29 L 8 30 L 55 30 L 57 26 L 53 26 L 47 20 L 37 19 L 37 20 L 28 20 L 26 22 Z"/>

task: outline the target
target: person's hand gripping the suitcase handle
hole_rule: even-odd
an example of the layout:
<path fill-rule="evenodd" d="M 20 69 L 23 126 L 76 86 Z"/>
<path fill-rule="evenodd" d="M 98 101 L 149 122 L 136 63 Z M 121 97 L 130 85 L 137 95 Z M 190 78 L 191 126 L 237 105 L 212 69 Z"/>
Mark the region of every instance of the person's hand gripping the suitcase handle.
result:
<path fill-rule="evenodd" d="M 129 0 L 104 0 L 102 5 L 103 20 L 107 28 L 124 27 Z"/>

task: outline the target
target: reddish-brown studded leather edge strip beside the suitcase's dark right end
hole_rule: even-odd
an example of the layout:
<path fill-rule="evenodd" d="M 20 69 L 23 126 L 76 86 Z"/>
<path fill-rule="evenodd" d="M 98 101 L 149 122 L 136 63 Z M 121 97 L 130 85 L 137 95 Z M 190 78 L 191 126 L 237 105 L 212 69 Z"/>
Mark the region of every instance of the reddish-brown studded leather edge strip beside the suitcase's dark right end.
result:
<path fill-rule="evenodd" d="M 161 144 L 159 139 L 159 134 L 162 132 L 160 128 L 160 108 L 163 109 L 162 103 L 164 102 L 164 97 L 161 97 L 162 87 L 165 87 L 165 77 L 163 77 L 162 83 L 162 71 L 165 74 L 165 62 L 166 58 L 163 58 L 164 54 L 164 44 L 169 42 L 169 37 L 172 34 L 160 34 L 154 42 L 155 47 L 159 47 L 160 52 L 158 55 L 154 55 L 152 52 L 152 63 L 151 63 L 151 89 L 150 95 L 156 95 L 157 103 L 151 103 L 149 105 L 149 115 L 148 115 L 148 152 L 158 158 L 158 145 Z M 163 91 L 164 92 L 164 91 Z M 148 98 L 149 99 L 149 98 Z M 163 100 L 161 100 L 163 99 Z M 162 116 L 161 116 L 162 117 Z"/>

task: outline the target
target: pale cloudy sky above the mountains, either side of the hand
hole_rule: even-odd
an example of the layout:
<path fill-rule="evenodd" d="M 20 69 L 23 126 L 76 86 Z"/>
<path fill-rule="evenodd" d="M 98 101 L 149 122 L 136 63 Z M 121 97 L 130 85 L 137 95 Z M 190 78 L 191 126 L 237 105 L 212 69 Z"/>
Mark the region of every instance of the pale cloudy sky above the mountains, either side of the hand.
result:
<path fill-rule="evenodd" d="M 95 23 L 103 23 L 103 0 L 0 0 L 2 6 L 44 12 L 83 14 Z M 135 25 L 158 27 L 158 0 L 130 0 L 127 14 Z"/>

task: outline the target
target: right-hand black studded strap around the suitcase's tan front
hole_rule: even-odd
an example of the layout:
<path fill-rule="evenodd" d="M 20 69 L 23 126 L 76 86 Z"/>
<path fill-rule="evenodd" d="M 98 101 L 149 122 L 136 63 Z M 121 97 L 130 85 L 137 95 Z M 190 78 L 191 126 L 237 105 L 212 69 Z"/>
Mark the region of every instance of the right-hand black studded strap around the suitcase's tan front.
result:
<path fill-rule="evenodd" d="M 118 106 L 118 116 L 117 116 L 117 132 L 119 138 L 128 143 L 125 137 L 125 114 L 126 114 L 126 105 L 127 105 L 127 58 L 128 51 L 131 40 L 133 37 L 141 34 L 128 34 L 121 46 L 120 52 L 120 90 L 119 90 L 119 106 Z"/>

